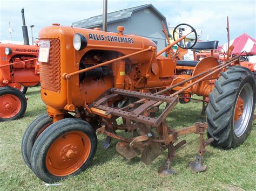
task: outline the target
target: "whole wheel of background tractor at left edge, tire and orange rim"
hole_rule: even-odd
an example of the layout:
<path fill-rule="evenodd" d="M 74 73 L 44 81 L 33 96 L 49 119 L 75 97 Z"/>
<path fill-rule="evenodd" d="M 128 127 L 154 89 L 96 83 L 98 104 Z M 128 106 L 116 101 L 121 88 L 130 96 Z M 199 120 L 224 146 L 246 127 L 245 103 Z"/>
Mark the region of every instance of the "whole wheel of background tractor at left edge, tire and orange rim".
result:
<path fill-rule="evenodd" d="M 0 88 L 0 121 L 22 117 L 26 111 L 26 97 L 12 87 Z"/>

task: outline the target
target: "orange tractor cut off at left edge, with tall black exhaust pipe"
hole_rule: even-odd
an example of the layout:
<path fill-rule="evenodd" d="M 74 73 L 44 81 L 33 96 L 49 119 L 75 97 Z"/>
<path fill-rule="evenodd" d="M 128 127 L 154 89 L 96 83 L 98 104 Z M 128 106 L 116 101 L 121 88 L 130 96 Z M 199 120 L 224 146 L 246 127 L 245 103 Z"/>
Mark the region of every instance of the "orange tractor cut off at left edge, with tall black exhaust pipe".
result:
<path fill-rule="evenodd" d="M 24 10 L 22 15 L 24 18 Z M 23 30 L 28 34 L 26 26 Z M 0 43 L 0 122 L 22 117 L 27 105 L 26 90 L 40 83 L 39 47 L 29 46 L 28 36 L 24 41 L 27 45 Z"/>

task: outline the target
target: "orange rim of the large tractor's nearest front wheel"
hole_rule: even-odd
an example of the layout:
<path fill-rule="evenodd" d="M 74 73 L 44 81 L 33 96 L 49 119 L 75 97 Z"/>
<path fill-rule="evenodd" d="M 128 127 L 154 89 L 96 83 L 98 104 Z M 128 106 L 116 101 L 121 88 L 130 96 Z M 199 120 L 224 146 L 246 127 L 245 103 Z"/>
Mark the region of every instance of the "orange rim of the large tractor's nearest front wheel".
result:
<path fill-rule="evenodd" d="M 50 146 L 45 159 L 46 168 L 55 176 L 70 175 L 83 166 L 90 150 L 90 138 L 85 133 L 65 133 Z"/>

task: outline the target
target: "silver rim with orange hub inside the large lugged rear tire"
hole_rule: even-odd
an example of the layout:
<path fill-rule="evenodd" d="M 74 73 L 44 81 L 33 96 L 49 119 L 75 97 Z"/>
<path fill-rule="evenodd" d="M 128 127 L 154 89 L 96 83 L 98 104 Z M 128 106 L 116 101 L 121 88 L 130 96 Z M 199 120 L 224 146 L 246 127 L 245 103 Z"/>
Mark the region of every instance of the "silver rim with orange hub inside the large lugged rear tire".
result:
<path fill-rule="evenodd" d="M 238 99 L 235 102 L 235 111 L 233 118 L 233 126 L 235 136 L 241 137 L 252 116 L 253 108 L 253 89 L 251 84 L 247 83 L 242 87 Z"/>

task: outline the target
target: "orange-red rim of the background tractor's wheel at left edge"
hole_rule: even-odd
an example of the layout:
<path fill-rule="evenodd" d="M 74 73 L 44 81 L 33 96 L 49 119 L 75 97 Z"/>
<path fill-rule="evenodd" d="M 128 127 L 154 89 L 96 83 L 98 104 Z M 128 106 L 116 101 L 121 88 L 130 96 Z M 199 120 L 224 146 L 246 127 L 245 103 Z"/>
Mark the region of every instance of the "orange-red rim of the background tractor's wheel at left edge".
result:
<path fill-rule="evenodd" d="M 11 118 L 21 110 L 21 100 L 15 95 L 5 94 L 0 96 L 0 117 Z"/>

